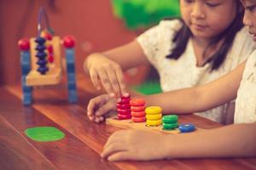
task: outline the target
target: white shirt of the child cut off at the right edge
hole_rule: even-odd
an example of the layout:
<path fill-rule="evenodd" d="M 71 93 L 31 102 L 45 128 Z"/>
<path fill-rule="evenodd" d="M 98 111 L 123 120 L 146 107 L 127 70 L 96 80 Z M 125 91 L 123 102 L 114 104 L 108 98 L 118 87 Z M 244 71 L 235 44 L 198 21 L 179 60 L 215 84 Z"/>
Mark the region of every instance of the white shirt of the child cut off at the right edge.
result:
<path fill-rule="evenodd" d="M 256 122 L 256 50 L 247 60 L 236 98 L 235 123 Z"/>

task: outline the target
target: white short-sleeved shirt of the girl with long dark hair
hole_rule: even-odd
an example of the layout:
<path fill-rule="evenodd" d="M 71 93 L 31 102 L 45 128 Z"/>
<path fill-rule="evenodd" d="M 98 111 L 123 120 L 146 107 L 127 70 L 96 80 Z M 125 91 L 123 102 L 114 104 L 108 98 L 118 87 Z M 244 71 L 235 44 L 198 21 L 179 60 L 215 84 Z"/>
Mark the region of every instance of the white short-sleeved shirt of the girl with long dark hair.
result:
<path fill-rule="evenodd" d="M 255 49 L 252 37 L 247 33 L 246 28 L 242 28 L 236 34 L 224 63 L 217 71 L 211 72 L 209 64 L 201 67 L 196 66 L 195 51 L 190 38 L 187 48 L 179 59 L 166 59 L 166 55 L 170 54 L 171 49 L 175 46 L 172 37 L 181 26 L 182 23 L 179 20 L 163 20 L 158 26 L 154 26 L 137 37 L 137 42 L 143 48 L 143 53 L 160 75 L 160 86 L 163 92 L 212 82 L 236 68 L 236 65 L 247 59 Z M 195 114 L 215 122 L 224 122 L 228 105 L 225 104 Z"/>

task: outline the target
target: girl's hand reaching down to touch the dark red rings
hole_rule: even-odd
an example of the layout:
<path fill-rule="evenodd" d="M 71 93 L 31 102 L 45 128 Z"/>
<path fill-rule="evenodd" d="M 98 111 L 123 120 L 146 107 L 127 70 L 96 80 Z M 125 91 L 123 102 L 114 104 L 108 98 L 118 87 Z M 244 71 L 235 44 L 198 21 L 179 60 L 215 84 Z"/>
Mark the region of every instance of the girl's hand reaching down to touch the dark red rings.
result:
<path fill-rule="evenodd" d="M 101 89 L 100 82 L 108 94 L 126 94 L 123 71 L 116 62 L 102 54 L 91 54 L 86 59 L 86 67 L 90 73 L 90 79 L 97 89 Z"/>

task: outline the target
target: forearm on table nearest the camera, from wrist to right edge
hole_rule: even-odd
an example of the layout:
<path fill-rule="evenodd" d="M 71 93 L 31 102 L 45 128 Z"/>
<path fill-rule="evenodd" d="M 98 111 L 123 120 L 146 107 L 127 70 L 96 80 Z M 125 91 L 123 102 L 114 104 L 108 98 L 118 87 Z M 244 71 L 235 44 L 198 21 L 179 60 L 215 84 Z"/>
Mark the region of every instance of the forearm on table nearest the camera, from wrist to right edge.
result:
<path fill-rule="evenodd" d="M 170 157 L 256 156 L 256 122 L 169 137 Z"/>

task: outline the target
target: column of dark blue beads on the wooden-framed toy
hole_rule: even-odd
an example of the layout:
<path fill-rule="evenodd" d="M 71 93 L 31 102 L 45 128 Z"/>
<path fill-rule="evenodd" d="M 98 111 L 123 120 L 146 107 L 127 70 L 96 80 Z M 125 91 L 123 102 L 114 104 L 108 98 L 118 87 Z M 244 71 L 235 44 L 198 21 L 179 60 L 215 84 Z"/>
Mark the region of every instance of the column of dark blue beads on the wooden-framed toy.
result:
<path fill-rule="evenodd" d="M 38 58 L 37 61 L 37 65 L 38 65 L 38 72 L 40 72 L 40 74 L 44 75 L 49 69 L 46 66 L 47 65 L 47 60 L 45 59 L 45 57 L 47 56 L 47 54 L 44 52 L 45 49 L 45 39 L 43 37 L 37 37 L 35 42 L 38 43 L 36 50 L 38 51 L 36 56 Z"/>

